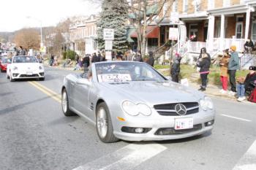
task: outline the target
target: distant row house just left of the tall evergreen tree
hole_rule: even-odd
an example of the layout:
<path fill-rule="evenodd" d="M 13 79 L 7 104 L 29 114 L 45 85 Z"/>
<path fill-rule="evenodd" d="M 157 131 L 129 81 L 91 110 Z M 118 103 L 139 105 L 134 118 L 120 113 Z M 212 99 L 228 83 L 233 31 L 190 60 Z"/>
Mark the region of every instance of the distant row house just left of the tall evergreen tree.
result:
<path fill-rule="evenodd" d="M 69 27 L 70 50 L 78 55 L 91 54 L 97 51 L 97 20 L 96 15 L 80 18 Z"/>

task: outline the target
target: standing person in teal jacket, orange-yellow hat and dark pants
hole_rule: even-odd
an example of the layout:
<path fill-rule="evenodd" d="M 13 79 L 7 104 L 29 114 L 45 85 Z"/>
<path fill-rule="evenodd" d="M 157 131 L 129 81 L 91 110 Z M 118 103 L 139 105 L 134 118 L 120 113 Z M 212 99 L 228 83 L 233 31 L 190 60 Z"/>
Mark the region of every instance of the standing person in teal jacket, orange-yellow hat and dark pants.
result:
<path fill-rule="evenodd" d="M 230 61 L 228 62 L 228 74 L 230 76 L 230 95 L 235 95 L 236 94 L 236 70 L 239 69 L 239 58 L 238 58 L 238 53 L 236 52 L 236 46 L 231 46 L 230 47 Z"/>

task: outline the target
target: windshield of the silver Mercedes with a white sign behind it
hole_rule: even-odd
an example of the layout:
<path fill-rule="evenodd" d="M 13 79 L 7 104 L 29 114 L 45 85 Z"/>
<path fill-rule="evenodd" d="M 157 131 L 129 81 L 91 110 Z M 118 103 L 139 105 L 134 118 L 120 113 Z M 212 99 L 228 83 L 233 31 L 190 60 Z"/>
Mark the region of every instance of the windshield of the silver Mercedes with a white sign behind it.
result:
<path fill-rule="evenodd" d="M 146 63 L 106 62 L 96 63 L 99 82 L 163 81 L 167 80 Z"/>

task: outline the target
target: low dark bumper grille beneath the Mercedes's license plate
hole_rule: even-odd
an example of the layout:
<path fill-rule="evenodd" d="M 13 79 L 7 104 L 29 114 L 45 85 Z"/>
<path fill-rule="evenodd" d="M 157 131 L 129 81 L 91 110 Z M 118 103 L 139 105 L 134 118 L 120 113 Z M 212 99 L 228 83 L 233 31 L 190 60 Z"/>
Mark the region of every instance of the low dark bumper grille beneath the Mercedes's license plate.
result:
<path fill-rule="evenodd" d="M 193 128 L 176 130 L 174 128 L 159 128 L 155 135 L 172 135 L 172 134 L 187 134 L 193 131 L 199 131 L 202 129 L 202 124 L 194 125 Z"/>

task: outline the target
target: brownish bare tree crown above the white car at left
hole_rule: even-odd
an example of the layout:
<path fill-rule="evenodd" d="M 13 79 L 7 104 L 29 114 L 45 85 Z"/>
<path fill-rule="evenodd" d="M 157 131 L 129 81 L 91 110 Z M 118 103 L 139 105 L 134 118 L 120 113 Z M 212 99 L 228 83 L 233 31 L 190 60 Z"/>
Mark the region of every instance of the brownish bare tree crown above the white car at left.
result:
<path fill-rule="evenodd" d="M 35 28 L 23 28 L 15 33 L 14 42 L 25 49 L 39 50 L 39 31 Z"/>

